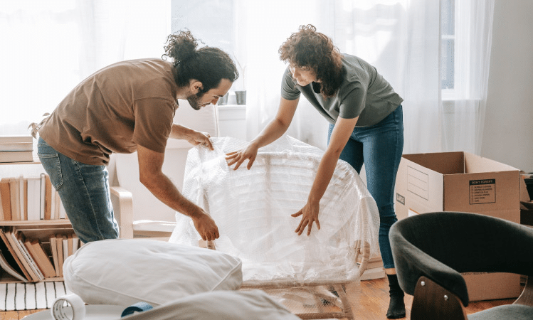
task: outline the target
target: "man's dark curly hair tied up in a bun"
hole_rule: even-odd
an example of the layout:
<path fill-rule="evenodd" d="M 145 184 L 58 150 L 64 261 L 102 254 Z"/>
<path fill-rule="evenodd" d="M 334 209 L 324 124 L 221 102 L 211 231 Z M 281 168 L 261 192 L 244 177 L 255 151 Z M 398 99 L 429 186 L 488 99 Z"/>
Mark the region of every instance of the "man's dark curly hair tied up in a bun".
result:
<path fill-rule="evenodd" d="M 179 87 L 189 85 L 189 80 L 198 80 L 204 85 L 200 92 L 208 92 L 218 87 L 222 79 L 235 82 L 238 70 L 228 53 L 219 48 L 198 48 L 198 41 L 191 31 L 179 31 L 167 38 L 165 55 L 172 58 L 174 79 Z"/>

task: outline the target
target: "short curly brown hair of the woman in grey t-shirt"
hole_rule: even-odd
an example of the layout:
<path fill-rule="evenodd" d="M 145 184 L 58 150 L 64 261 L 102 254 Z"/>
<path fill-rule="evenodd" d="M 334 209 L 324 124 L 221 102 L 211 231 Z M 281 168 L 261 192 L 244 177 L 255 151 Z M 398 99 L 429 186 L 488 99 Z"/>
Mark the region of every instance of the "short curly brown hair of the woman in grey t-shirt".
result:
<path fill-rule="evenodd" d="M 342 66 L 341 54 L 333 45 L 333 41 L 317 32 L 315 26 L 300 26 L 300 31 L 292 33 L 278 52 L 280 60 L 298 68 L 314 70 L 317 79 L 322 81 L 320 92 L 325 97 L 332 97 L 339 89 L 346 73 Z"/>

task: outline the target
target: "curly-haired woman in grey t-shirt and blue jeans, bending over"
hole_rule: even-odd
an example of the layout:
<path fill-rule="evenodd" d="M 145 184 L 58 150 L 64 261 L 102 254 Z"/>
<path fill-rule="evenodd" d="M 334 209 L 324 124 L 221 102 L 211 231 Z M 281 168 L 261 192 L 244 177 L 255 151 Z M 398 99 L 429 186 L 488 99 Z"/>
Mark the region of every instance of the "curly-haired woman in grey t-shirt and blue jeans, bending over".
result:
<path fill-rule="evenodd" d="M 283 43 L 280 59 L 289 63 L 281 85 L 281 101 L 273 119 L 241 151 L 228 154 L 228 165 L 238 169 L 248 159 L 253 165 L 258 149 L 281 137 L 294 117 L 300 95 L 329 122 L 328 146 L 318 166 L 307 204 L 293 217 L 302 216 L 295 230 L 301 235 L 313 223 L 320 229 L 319 203 L 338 159 L 360 172 L 366 169 L 367 186 L 379 208 L 379 247 L 390 287 L 389 319 L 405 316 L 389 243 L 389 229 L 396 222 L 394 184 L 403 151 L 403 99 L 369 63 L 339 53 L 332 40 L 312 25 L 300 26 Z"/>

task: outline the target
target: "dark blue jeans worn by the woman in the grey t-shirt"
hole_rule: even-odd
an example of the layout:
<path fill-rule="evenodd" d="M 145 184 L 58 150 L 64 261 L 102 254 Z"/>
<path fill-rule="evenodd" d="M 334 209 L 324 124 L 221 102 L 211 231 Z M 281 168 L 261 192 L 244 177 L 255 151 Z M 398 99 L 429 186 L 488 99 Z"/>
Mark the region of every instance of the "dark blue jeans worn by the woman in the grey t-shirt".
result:
<path fill-rule="evenodd" d="M 327 142 L 333 124 L 329 124 Z M 403 110 L 401 105 L 385 119 L 371 127 L 355 127 L 342 150 L 340 159 L 347 161 L 357 173 L 364 164 L 366 186 L 379 210 L 379 250 L 385 269 L 394 268 L 389 230 L 395 223 L 394 186 L 403 152 Z"/>

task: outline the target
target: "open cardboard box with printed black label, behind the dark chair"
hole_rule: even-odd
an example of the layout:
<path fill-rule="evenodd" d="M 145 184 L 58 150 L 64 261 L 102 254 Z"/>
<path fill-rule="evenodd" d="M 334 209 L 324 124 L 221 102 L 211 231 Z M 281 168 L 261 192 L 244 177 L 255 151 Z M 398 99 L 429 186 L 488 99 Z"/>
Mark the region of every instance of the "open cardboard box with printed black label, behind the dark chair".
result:
<path fill-rule="evenodd" d="M 457 211 L 520 223 L 520 171 L 468 152 L 404 154 L 396 177 L 396 215 Z M 497 256 L 495 252 L 495 257 Z M 520 275 L 463 274 L 470 301 L 520 294 Z"/>

